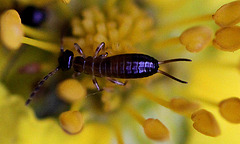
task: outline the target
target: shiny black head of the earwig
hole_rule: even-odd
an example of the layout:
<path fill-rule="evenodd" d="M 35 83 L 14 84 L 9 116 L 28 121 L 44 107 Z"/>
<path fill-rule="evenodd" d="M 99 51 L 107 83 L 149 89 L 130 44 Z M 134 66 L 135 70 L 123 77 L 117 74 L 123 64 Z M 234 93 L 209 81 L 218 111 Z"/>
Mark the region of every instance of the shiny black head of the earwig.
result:
<path fill-rule="evenodd" d="M 62 52 L 58 58 L 59 68 L 63 71 L 69 70 L 72 67 L 73 56 L 73 52 L 70 50 Z"/>

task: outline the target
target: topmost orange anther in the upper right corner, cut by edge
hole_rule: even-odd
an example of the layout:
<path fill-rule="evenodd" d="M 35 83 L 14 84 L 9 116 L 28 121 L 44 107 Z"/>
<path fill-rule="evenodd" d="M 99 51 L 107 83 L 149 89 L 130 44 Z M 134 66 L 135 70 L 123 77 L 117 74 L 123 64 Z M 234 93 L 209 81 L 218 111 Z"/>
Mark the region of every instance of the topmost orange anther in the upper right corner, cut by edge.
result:
<path fill-rule="evenodd" d="M 221 27 L 233 26 L 240 21 L 240 1 L 234 1 L 220 7 L 213 15 L 215 23 Z"/>

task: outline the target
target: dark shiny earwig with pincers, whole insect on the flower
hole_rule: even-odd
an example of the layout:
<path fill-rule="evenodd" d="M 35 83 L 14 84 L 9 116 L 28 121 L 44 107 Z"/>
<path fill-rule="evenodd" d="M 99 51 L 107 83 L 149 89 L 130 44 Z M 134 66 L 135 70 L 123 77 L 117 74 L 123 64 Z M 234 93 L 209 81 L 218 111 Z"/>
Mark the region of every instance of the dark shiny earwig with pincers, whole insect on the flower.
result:
<path fill-rule="evenodd" d="M 105 43 L 102 42 L 96 49 L 94 56 L 85 57 L 81 47 L 74 43 L 74 47 L 80 56 L 74 57 L 74 54 L 70 50 L 65 50 L 61 46 L 61 54 L 58 58 L 58 67 L 46 75 L 37 85 L 37 87 L 30 94 L 30 97 L 26 101 L 28 105 L 32 98 L 36 95 L 43 83 L 58 70 L 66 71 L 73 67 L 73 77 L 79 76 L 81 73 L 92 75 L 92 81 L 98 91 L 101 91 L 96 77 L 106 77 L 112 83 L 117 85 L 126 85 L 127 81 L 120 82 L 115 78 L 121 79 L 135 79 L 151 76 L 155 73 L 161 73 L 173 80 L 181 83 L 187 83 L 180 80 L 162 70 L 159 70 L 159 65 L 177 62 L 177 61 L 191 61 L 190 59 L 178 58 L 164 61 L 158 61 L 155 58 L 144 54 L 121 54 L 108 57 L 108 53 L 99 55 L 100 51 L 104 49 Z"/>

